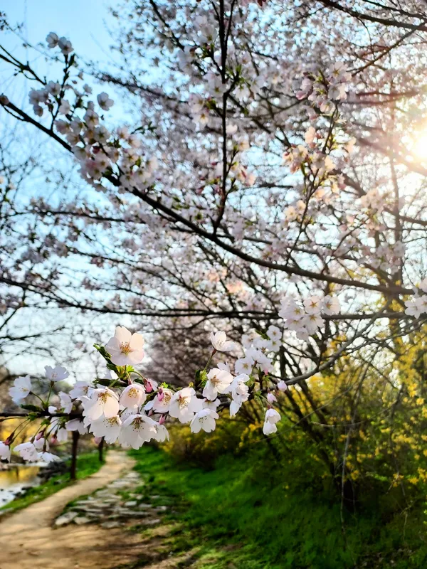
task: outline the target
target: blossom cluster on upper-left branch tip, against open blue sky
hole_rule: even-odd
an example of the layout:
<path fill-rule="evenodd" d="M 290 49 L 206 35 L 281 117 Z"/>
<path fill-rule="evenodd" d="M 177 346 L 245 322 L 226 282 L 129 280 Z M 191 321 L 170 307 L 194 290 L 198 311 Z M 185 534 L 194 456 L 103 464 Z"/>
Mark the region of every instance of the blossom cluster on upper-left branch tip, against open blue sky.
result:
<path fill-rule="evenodd" d="M 78 87 L 81 72 L 69 79 L 73 66 L 73 60 L 68 59 L 73 51 L 70 41 L 53 32 L 46 41 L 49 48 L 59 48 L 65 55 L 65 75 L 62 84 L 49 81 L 43 88 L 30 91 L 34 113 L 41 117 L 45 109 L 51 112 L 56 131 L 65 136 L 80 164 L 80 174 L 95 188 L 100 189 L 97 182 L 102 176 L 113 172 L 120 180 L 121 191 L 150 186 L 157 169 L 156 158 L 144 155 L 141 139 L 127 127 L 110 132 L 102 124 L 102 112 L 109 111 L 114 101 L 106 92 L 100 92 L 96 101 L 88 100 L 92 88 L 87 84 Z"/>

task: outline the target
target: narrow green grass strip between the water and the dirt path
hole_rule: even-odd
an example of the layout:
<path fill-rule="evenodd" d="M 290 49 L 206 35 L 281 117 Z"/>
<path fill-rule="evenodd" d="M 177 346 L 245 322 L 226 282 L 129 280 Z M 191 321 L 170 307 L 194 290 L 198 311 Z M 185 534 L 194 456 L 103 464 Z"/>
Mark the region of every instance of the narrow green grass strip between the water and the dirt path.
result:
<path fill-rule="evenodd" d="M 90 474 L 94 474 L 101 466 L 102 464 L 98 460 L 97 452 L 84 452 L 79 454 L 77 457 L 77 479 L 80 480 L 90 476 Z M 68 484 L 70 484 L 70 474 L 68 472 L 57 474 L 47 482 L 40 484 L 40 486 L 34 486 L 33 488 L 28 489 L 23 496 L 19 496 L 9 502 L 9 504 L 1 506 L 0 511 L 7 510 L 12 513 L 14 511 L 21 510 L 22 508 L 26 508 L 26 506 L 35 504 L 36 502 L 55 494 L 59 490 L 65 488 L 65 486 L 68 486 Z"/>

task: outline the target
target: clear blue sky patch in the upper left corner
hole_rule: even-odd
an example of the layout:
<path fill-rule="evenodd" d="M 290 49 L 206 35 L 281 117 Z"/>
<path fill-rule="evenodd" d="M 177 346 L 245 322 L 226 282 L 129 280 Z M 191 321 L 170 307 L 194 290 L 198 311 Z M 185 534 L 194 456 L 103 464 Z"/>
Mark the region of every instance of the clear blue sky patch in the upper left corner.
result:
<path fill-rule="evenodd" d="M 51 60 L 46 61 L 46 36 L 53 31 L 58 36 L 65 36 L 78 56 L 79 69 L 85 69 L 87 63 L 96 62 L 100 70 L 111 70 L 112 64 L 121 63 L 120 54 L 110 50 L 116 43 L 110 31 L 117 30 L 117 19 L 110 15 L 109 6 L 115 5 L 113 0 L 0 0 L 0 9 L 6 13 L 11 26 L 23 24 L 19 33 L 4 33 L 1 44 L 21 61 L 28 60 L 38 75 L 48 80 L 59 80 L 62 65 Z M 28 41 L 36 49 L 25 48 Z M 43 44 L 43 45 L 41 45 Z M 42 48 L 38 50 L 38 48 Z M 59 55 L 58 50 L 48 50 L 52 55 Z M 94 93 L 105 90 L 96 81 L 85 74 L 85 82 L 94 89 Z M 28 92 L 39 85 L 21 76 L 16 78 L 10 65 L 0 61 L 0 92 L 3 92 L 19 107 L 31 114 L 28 105 Z M 115 100 L 115 106 L 109 113 L 115 122 L 132 122 L 132 113 L 112 87 L 107 91 Z M 135 117 L 134 117 L 135 118 Z"/>

